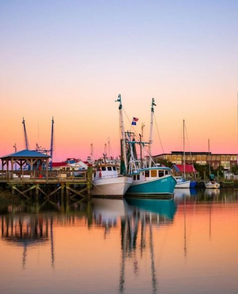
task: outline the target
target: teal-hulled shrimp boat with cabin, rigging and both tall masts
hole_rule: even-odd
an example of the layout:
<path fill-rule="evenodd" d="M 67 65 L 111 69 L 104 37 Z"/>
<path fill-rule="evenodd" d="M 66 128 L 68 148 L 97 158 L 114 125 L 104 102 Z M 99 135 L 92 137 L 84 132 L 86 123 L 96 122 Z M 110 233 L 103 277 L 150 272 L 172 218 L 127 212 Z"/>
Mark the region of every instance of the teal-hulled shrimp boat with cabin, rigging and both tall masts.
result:
<path fill-rule="evenodd" d="M 153 116 L 155 100 L 152 98 L 151 105 L 151 129 L 149 142 L 136 139 L 135 133 L 124 129 L 124 121 L 122 114 L 122 100 L 121 95 L 116 100 L 120 103 L 120 128 L 121 128 L 121 164 L 124 164 L 125 173 L 133 178 L 133 183 L 127 191 L 127 195 L 141 195 L 141 196 L 152 196 L 152 197 L 171 197 L 174 192 L 176 180 L 172 176 L 171 169 L 168 167 L 158 166 L 154 163 L 152 166 L 151 149 L 152 149 L 152 129 L 153 129 Z M 140 146 L 141 156 L 138 159 L 136 145 Z M 149 159 L 145 160 L 143 156 L 143 148 L 145 145 L 149 146 Z M 122 160 L 123 159 L 123 160 Z M 121 169 L 121 173 L 122 169 Z"/>

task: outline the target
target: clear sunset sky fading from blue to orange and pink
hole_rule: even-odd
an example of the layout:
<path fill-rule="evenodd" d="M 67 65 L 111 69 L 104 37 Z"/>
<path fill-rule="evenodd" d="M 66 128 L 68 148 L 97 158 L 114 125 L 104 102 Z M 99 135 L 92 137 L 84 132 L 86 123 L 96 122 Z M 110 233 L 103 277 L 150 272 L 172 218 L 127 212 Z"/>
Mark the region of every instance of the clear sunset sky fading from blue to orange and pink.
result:
<path fill-rule="evenodd" d="M 0 156 L 49 149 L 54 161 L 95 158 L 145 123 L 155 98 L 152 154 L 237 154 L 238 2 L 0 0 Z M 158 128 L 158 131 L 157 131 Z M 159 140 L 161 138 L 161 142 Z"/>

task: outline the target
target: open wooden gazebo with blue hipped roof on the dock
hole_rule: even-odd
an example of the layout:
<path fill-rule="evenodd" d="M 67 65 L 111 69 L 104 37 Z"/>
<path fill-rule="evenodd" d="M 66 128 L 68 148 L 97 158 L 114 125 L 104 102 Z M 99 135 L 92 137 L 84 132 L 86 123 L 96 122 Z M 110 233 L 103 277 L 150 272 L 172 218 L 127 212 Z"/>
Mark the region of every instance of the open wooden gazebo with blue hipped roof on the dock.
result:
<path fill-rule="evenodd" d="M 40 170 L 43 166 L 48 170 L 49 159 L 49 155 L 26 149 L 2 157 L 2 170 L 6 166 L 7 171 L 13 171 L 16 164 L 20 167 L 21 171 L 26 164 L 29 166 L 29 171 Z M 9 169 L 10 166 L 11 169 Z"/>

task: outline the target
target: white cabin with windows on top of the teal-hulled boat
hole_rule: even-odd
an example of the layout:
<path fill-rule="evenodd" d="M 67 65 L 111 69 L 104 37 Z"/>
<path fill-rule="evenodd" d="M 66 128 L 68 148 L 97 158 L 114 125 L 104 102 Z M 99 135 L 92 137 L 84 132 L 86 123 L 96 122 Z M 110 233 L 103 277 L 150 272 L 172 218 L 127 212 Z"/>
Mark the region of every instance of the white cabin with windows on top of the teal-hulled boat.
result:
<path fill-rule="evenodd" d="M 168 167 L 152 167 L 140 169 L 132 173 L 133 181 L 151 181 L 171 175 L 171 169 Z"/>

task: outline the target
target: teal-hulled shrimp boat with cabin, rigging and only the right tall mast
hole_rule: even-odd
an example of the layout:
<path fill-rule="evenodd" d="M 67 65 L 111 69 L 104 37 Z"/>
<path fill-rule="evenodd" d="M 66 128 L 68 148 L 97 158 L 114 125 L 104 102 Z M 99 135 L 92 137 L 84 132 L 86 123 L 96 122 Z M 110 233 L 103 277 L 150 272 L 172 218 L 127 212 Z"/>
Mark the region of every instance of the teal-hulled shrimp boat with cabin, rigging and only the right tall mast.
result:
<path fill-rule="evenodd" d="M 141 161 L 137 158 L 136 144 L 142 146 L 146 142 L 136 140 L 133 132 L 125 133 L 125 140 L 127 145 L 128 174 L 133 177 L 133 183 L 127 191 L 127 195 L 143 195 L 143 196 L 158 196 L 163 194 L 165 197 L 171 197 L 174 192 L 176 184 L 175 178 L 172 176 L 171 169 L 168 167 L 153 166 L 151 160 L 151 146 L 152 146 L 152 131 L 153 131 L 153 116 L 155 99 L 152 98 L 151 105 L 151 128 L 149 139 L 149 167 L 144 167 L 142 153 Z M 127 165 L 126 165 L 127 167 Z"/>

